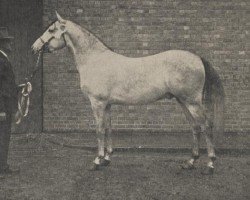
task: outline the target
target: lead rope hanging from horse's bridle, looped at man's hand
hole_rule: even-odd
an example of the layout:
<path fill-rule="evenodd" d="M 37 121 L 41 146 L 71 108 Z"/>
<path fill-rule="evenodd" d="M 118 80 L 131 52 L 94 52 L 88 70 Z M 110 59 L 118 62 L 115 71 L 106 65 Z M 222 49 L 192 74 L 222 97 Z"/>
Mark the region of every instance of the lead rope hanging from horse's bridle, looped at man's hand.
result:
<path fill-rule="evenodd" d="M 16 124 L 20 124 L 22 119 L 26 117 L 29 113 L 29 106 L 30 106 L 30 93 L 32 91 L 32 84 L 31 80 L 33 79 L 36 72 L 39 70 L 39 63 L 42 57 L 42 51 L 39 51 L 39 55 L 36 61 L 36 66 L 30 77 L 25 78 L 24 84 L 18 85 L 18 88 L 22 88 L 20 98 L 18 98 L 18 111 L 16 113 Z"/>

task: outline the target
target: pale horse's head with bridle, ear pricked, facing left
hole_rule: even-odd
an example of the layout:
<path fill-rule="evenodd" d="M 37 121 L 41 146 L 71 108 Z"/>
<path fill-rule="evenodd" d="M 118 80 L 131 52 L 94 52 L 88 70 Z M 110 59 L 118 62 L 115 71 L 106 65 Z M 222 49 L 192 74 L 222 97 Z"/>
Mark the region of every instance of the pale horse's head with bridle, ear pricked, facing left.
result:
<path fill-rule="evenodd" d="M 67 20 L 56 12 L 57 20 L 53 22 L 46 31 L 34 42 L 32 50 L 37 53 L 44 47 L 53 52 L 66 46 L 64 34 L 67 32 Z"/>

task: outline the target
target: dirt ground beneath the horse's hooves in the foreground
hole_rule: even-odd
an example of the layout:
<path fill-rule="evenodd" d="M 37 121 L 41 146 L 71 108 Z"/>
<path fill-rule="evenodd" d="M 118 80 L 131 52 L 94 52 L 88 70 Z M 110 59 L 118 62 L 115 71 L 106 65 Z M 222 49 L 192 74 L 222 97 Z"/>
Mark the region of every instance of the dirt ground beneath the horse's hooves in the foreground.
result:
<path fill-rule="evenodd" d="M 213 176 L 180 170 L 189 155 L 115 152 L 112 164 L 89 171 L 94 153 L 36 139 L 12 140 L 9 163 L 20 174 L 0 180 L 0 200 L 250 199 L 250 157 L 219 155 Z"/>

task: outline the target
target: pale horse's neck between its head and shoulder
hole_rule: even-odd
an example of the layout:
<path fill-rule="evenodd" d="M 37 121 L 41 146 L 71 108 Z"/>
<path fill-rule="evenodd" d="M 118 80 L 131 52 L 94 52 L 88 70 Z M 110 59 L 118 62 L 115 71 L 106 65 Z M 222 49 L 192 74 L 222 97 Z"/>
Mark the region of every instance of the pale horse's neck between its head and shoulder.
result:
<path fill-rule="evenodd" d="M 108 48 L 101 43 L 95 36 L 87 30 L 81 28 L 73 22 L 68 22 L 68 32 L 65 40 L 73 52 L 76 62 L 87 61 L 88 55 L 107 50 Z"/>

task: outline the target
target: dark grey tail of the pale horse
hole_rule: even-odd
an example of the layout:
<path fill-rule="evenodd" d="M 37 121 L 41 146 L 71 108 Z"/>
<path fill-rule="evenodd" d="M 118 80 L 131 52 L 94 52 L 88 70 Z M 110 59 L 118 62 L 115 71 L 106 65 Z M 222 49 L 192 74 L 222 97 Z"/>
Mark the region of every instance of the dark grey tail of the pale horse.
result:
<path fill-rule="evenodd" d="M 211 64 L 204 58 L 201 60 L 205 68 L 203 104 L 212 117 L 213 133 L 216 132 L 217 136 L 221 137 L 224 133 L 224 88 L 218 73 Z"/>

